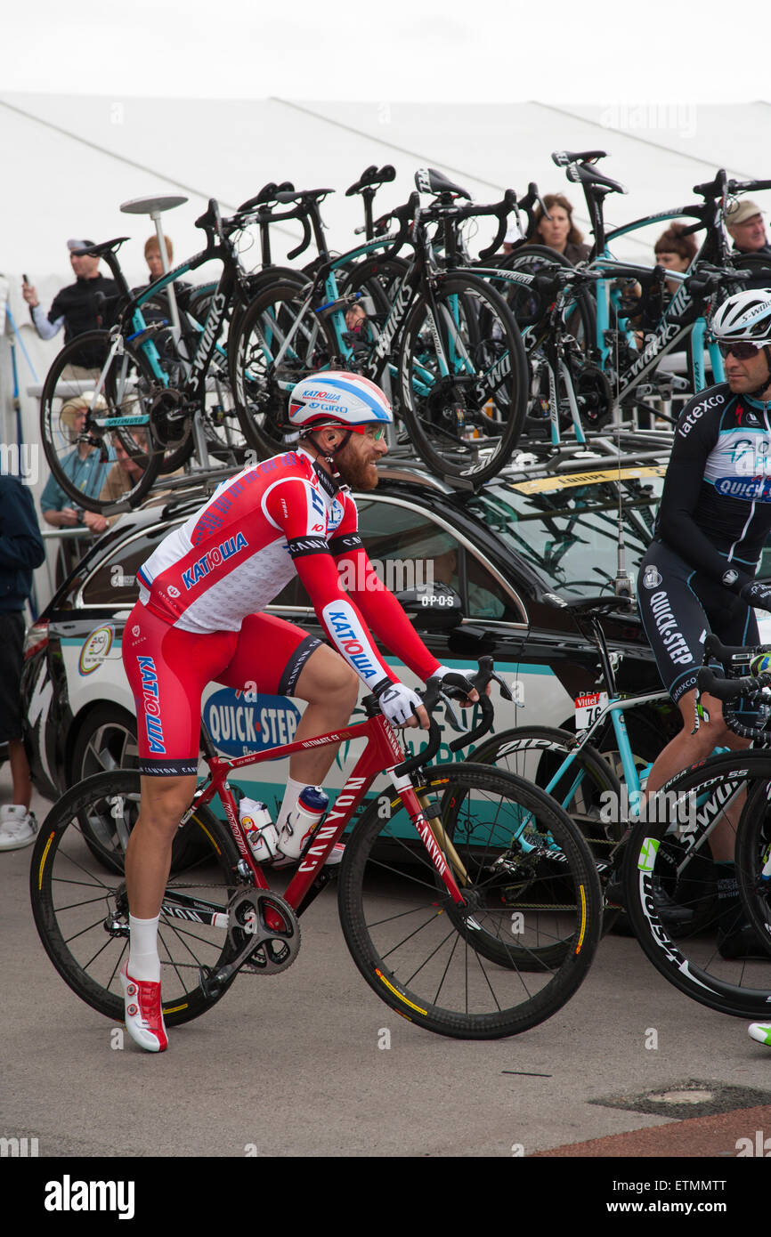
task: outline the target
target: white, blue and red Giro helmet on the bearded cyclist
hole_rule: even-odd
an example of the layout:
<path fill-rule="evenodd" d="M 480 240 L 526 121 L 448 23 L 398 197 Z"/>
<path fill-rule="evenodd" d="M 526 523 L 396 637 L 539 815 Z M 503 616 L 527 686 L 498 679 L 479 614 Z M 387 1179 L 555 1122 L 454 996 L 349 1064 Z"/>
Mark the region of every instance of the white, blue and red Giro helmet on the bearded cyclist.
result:
<path fill-rule="evenodd" d="M 344 370 L 312 374 L 290 396 L 290 421 L 306 434 L 328 428 L 363 433 L 366 426 L 390 426 L 392 419 L 391 404 L 380 387 Z"/>

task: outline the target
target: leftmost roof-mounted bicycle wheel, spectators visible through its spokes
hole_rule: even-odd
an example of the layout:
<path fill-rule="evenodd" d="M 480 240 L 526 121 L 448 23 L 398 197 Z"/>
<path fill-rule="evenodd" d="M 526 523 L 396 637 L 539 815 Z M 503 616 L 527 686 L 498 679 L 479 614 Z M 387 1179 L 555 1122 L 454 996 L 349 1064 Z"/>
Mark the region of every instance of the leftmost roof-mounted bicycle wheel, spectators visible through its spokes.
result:
<path fill-rule="evenodd" d="M 150 426 L 153 379 L 145 357 L 111 350 L 108 332 L 78 335 L 53 361 L 41 395 L 41 440 L 53 479 L 72 506 L 88 511 L 140 502 L 163 450 Z"/>

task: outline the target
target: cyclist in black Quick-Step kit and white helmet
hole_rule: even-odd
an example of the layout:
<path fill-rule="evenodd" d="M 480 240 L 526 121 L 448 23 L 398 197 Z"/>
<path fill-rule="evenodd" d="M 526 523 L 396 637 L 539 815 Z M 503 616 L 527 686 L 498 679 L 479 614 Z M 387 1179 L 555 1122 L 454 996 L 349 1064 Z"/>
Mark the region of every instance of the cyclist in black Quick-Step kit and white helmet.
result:
<path fill-rule="evenodd" d="M 707 632 L 725 644 L 756 644 L 752 607 L 771 611 L 771 580 L 755 579 L 771 531 L 771 292 L 730 297 L 712 330 L 726 381 L 700 391 L 681 413 L 655 539 L 637 580 L 642 623 L 683 717 L 683 729 L 653 763 L 648 793 L 715 746 L 747 746 L 726 729 L 720 701 L 709 695 L 703 696 L 709 720 L 692 734 L 696 679 Z M 734 833 L 719 825 L 709 841 L 725 907 L 720 952 L 756 955 L 751 930 L 726 930 L 738 907 Z"/>

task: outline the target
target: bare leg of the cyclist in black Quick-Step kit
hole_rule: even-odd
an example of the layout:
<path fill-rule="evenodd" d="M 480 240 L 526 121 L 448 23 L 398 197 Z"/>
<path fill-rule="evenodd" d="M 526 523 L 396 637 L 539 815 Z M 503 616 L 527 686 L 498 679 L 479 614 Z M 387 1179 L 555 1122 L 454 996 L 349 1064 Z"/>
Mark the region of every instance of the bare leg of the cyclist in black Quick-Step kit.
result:
<path fill-rule="evenodd" d="M 683 719 L 683 729 L 667 743 L 665 750 L 653 761 L 650 772 L 646 797 L 658 790 L 671 777 L 687 769 L 696 761 L 705 760 L 714 747 L 730 747 L 733 751 L 741 751 L 750 746 L 747 738 L 740 738 L 728 729 L 723 720 L 723 705 L 710 695 L 703 695 L 702 703 L 709 714 L 709 721 L 702 721 L 696 735 L 692 735 L 696 689 L 687 691 L 678 700 L 678 709 Z M 729 810 L 718 820 L 709 835 L 709 847 L 713 858 L 733 860 L 736 841 L 735 825 L 739 820 L 744 805 L 744 793 L 731 803 Z"/>

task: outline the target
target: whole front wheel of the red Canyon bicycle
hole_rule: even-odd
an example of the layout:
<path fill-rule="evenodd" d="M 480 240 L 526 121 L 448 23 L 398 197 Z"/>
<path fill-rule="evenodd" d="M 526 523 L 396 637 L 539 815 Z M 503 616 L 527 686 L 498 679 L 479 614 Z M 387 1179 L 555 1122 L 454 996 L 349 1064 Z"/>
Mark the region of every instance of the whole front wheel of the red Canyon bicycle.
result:
<path fill-rule="evenodd" d="M 345 846 L 343 934 L 361 975 L 403 1018 L 499 1039 L 549 1018 L 587 975 L 601 918 L 593 857 L 543 792 L 480 764 L 437 766 L 417 788 L 464 896 L 447 894 L 401 798 L 371 804 Z M 434 809 L 436 810 L 436 809 Z"/>

